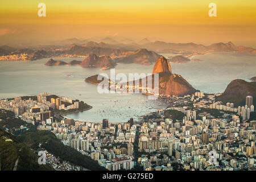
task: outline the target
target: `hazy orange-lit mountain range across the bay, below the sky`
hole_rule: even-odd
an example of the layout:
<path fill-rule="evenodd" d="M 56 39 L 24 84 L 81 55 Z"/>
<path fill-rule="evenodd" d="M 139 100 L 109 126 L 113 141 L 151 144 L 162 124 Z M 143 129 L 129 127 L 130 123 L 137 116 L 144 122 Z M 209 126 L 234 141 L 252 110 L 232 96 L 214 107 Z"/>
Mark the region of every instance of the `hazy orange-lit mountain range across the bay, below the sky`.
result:
<path fill-rule="evenodd" d="M 110 56 L 116 63 L 153 64 L 160 55 L 158 53 L 180 53 L 172 57 L 173 63 L 187 63 L 188 57 L 208 52 L 246 52 L 256 53 L 256 49 L 244 46 L 235 46 L 232 42 L 214 43 L 210 46 L 195 43 L 166 43 L 151 42 L 147 38 L 139 42 L 118 38 L 98 38 L 97 41 L 85 39 L 66 39 L 63 42 L 47 46 L 20 47 L 0 46 L 0 56 L 20 55 L 27 53 L 31 60 L 42 59 L 53 56 Z M 123 40 L 123 41 L 122 41 Z M 74 44 L 75 43 L 75 44 Z M 158 52 L 158 53 L 156 53 Z M 183 56 L 183 57 L 182 57 Z"/>

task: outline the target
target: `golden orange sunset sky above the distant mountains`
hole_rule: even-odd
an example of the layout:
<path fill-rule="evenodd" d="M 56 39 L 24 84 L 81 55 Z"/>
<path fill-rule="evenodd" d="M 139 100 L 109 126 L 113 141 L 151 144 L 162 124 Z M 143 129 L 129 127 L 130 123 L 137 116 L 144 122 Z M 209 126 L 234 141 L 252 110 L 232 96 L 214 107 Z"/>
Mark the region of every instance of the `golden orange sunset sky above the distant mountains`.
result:
<path fill-rule="evenodd" d="M 39 17 L 39 3 L 46 17 Z M 217 16 L 210 17 L 209 3 Z M 256 48 L 254 0 L 1 0 L 0 44 L 125 36 Z"/>

